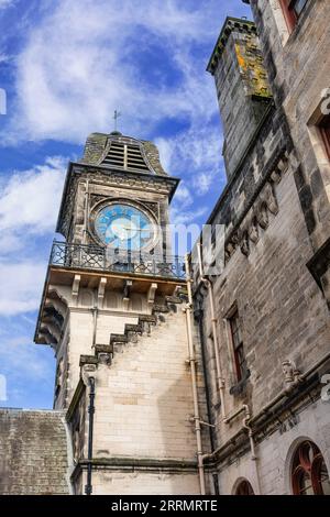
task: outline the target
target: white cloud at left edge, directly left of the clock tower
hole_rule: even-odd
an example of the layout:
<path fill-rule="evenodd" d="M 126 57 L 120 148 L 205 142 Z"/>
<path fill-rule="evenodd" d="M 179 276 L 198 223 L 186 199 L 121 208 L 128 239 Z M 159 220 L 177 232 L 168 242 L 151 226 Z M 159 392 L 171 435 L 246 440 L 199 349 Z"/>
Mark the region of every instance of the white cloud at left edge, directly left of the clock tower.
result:
<path fill-rule="evenodd" d="M 15 172 L 0 184 L 0 316 L 37 309 L 46 265 L 33 250 L 36 237 L 54 233 L 67 160 Z"/>

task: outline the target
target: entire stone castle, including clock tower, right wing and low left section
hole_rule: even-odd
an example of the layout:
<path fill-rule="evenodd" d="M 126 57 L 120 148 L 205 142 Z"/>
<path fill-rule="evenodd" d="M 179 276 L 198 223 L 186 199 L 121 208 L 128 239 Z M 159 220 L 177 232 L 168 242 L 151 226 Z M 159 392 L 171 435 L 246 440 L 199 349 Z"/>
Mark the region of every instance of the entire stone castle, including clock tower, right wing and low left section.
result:
<path fill-rule="evenodd" d="M 55 352 L 54 410 L 0 410 L 0 493 L 330 495 L 330 12 L 251 7 L 208 64 L 222 271 L 213 239 L 197 263 L 173 255 L 178 179 L 155 145 L 91 134 L 35 332 Z"/>

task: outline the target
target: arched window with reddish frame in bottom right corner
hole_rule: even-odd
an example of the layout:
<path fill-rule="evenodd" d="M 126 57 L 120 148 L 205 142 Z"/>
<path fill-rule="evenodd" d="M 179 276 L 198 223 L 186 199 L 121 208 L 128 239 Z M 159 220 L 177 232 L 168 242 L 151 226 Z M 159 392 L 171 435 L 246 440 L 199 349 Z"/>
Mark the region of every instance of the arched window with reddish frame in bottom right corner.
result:
<path fill-rule="evenodd" d="M 295 495 L 330 495 L 330 481 L 324 459 L 311 441 L 300 443 L 293 463 Z"/>

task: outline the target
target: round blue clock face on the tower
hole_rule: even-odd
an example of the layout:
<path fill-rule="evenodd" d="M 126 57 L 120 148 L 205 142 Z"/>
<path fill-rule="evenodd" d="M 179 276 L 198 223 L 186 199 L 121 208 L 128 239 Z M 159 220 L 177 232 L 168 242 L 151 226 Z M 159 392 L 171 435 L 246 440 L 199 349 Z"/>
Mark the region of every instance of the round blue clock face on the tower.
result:
<path fill-rule="evenodd" d="M 138 251 L 155 238 L 152 220 L 138 208 L 118 204 L 105 207 L 96 217 L 95 229 L 109 248 Z"/>

